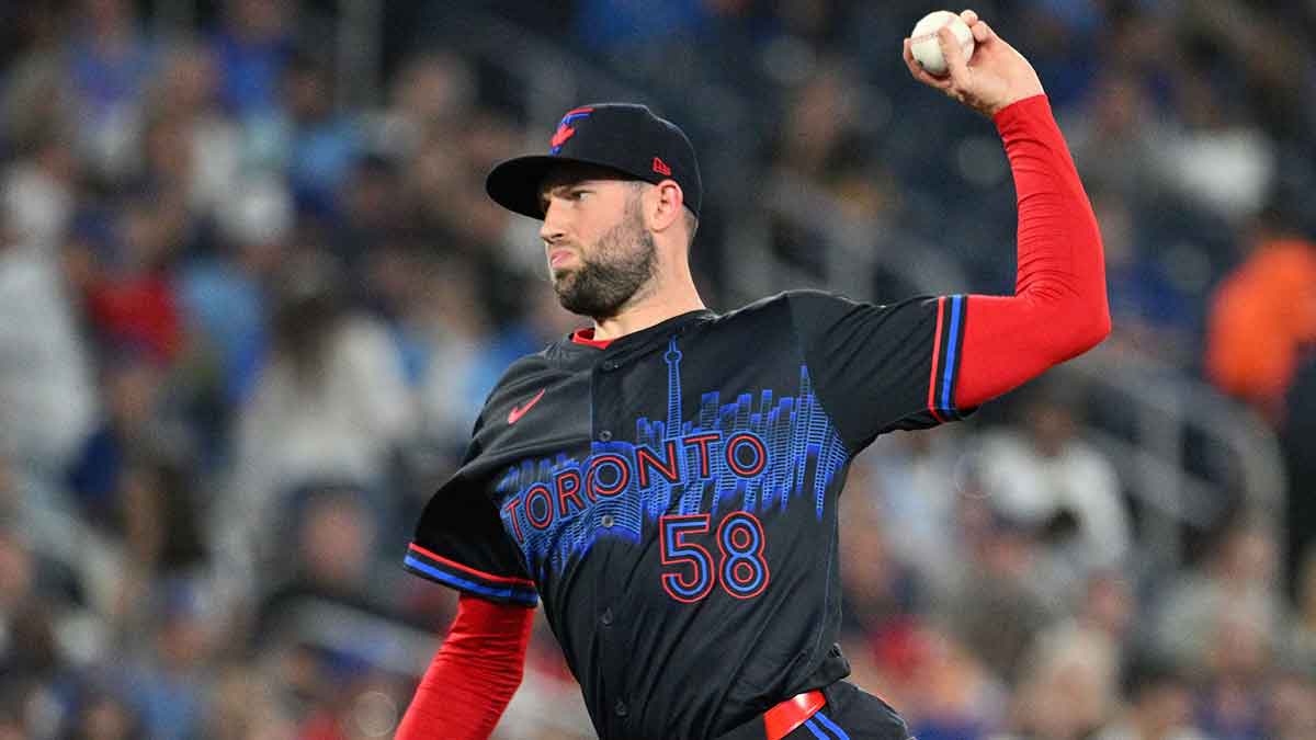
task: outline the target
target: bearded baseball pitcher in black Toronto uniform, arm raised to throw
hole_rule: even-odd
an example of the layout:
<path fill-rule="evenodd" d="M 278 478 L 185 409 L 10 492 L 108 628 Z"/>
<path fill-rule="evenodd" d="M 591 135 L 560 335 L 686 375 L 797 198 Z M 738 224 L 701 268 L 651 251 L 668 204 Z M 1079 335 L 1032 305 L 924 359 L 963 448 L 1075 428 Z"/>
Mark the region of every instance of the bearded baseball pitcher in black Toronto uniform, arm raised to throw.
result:
<path fill-rule="evenodd" d="M 687 257 L 701 186 L 647 108 L 569 111 L 487 191 L 542 219 L 592 319 L 513 363 L 405 566 L 461 591 L 397 737 L 487 737 L 544 603 L 608 740 L 904 740 L 845 677 L 837 495 L 878 435 L 962 419 L 1109 332 L 1100 237 L 1032 66 L 975 13 L 966 65 L 911 74 L 991 117 L 1019 196 L 1013 296 L 790 291 L 717 315 Z"/>

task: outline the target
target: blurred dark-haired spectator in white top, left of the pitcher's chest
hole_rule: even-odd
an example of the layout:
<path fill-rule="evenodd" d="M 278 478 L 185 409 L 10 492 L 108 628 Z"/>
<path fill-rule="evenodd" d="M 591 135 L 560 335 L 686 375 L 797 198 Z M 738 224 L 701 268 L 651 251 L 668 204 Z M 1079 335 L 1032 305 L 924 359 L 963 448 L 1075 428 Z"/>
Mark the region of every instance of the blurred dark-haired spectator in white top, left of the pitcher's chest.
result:
<path fill-rule="evenodd" d="M 416 431 L 399 352 L 376 320 L 343 303 L 337 266 L 326 257 L 295 261 L 279 290 L 271 353 L 240 420 L 221 519 L 245 533 L 232 541 L 243 557 L 274 544 L 274 517 L 300 486 L 336 479 L 379 496 Z"/>

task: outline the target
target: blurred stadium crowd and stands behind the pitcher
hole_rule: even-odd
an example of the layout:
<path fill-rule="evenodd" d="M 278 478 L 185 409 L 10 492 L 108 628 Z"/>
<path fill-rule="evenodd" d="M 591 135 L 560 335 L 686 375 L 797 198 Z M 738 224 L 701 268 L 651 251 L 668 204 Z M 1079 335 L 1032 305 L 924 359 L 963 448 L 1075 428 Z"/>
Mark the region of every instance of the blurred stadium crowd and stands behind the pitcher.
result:
<path fill-rule="evenodd" d="M 512 358 L 576 325 L 487 167 L 650 104 L 729 309 L 1012 288 L 925 1 L 0 3 L 0 739 L 390 736 L 399 568 Z M 1012 0 L 1115 330 L 844 498 L 854 677 L 921 740 L 1316 737 L 1316 4 Z M 1177 729 L 1171 729 L 1177 728 Z M 503 737 L 590 737 L 541 624 Z"/>

